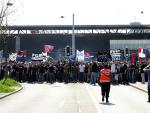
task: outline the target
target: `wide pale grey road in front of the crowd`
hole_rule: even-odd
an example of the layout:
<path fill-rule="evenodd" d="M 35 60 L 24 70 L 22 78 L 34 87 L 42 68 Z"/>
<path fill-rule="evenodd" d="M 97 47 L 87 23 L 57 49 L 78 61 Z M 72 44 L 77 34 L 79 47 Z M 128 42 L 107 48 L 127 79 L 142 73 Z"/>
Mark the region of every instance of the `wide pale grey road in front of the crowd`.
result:
<path fill-rule="evenodd" d="M 150 113 L 147 94 L 131 86 L 111 86 L 110 103 L 105 103 L 98 85 L 23 85 L 19 93 L 0 100 L 0 113 Z"/>

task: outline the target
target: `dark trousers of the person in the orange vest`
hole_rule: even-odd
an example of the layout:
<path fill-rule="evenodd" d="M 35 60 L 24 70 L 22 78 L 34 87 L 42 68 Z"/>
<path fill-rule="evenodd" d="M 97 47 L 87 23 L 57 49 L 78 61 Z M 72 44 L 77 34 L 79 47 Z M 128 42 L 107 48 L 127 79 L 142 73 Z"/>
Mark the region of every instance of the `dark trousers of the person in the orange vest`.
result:
<path fill-rule="evenodd" d="M 109 97 L 109 92 L 110 92 L 110 82 L 106 82 L 106 83 L 101 83 L 101 92 L 102 92 L 102 96 L 106 97 L 106 99 L 108 99 Z"/>

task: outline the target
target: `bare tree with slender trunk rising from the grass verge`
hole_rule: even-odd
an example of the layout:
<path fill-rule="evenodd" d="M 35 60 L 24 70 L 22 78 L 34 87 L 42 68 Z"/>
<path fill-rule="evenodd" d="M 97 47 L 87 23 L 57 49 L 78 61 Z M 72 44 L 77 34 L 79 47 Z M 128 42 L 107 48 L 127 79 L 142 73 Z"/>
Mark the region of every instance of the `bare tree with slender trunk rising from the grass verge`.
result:
<path fill-rule="evenodd" d="M 11 18 L 11 15 L 16 12 L 15 6 L 16 0 L 0 0 L 0 40 L 3 43 L 3 50 L 5 55 L 5 70 L 8 71 L 7 67 L 7 37 L 9 37 L 11 34 L 8 31 L 8 20 Z M 7 74 L 4 75 L 5 80 L 3 83 L 5 83 L 7 79 Z"/>

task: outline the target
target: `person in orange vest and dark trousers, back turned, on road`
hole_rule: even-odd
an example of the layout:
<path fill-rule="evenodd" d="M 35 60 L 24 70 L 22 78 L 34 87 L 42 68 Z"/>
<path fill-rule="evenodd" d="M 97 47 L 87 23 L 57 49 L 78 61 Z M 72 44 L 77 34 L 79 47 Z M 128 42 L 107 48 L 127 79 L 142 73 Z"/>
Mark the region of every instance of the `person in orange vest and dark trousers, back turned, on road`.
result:
<path fill-rule="evenodd" d="M 104 65 L 104 68 L 100 70 L 100 85 L 101 85 L 101 92 L 102 92 L 102 101 L 106 97 L 106 102 L 108 103 L 109 92 L 110 92 L 110 69 L 108 65 Z"/>

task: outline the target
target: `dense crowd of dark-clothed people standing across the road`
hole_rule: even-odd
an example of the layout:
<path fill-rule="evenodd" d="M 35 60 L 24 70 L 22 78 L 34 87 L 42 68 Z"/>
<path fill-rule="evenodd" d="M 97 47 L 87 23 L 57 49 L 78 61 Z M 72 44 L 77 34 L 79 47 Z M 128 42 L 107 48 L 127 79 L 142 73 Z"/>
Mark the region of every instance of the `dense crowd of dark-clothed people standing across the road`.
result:
<path fill-rule="evenodd" d="M 57 63 L 43 62 L 25 62 L 9 63 L 7 66 L 1 64 L 0 79 L 5 76 L 5 70 L 8 76 L 19 82 L 29 83 L 54 83 L 58 82 L 88 82 L 95 85 L 99 82 L 99 72 L 103 69 L 106 62 L 73 62 L 58 61 Z M 143 84 L 147 80 L 147 75 L 143 68 L 146 62 L 132 64 L 129 62 L 107 62 L 111 70 L 112 84 L 135 83 L 137 80 Z"/>

